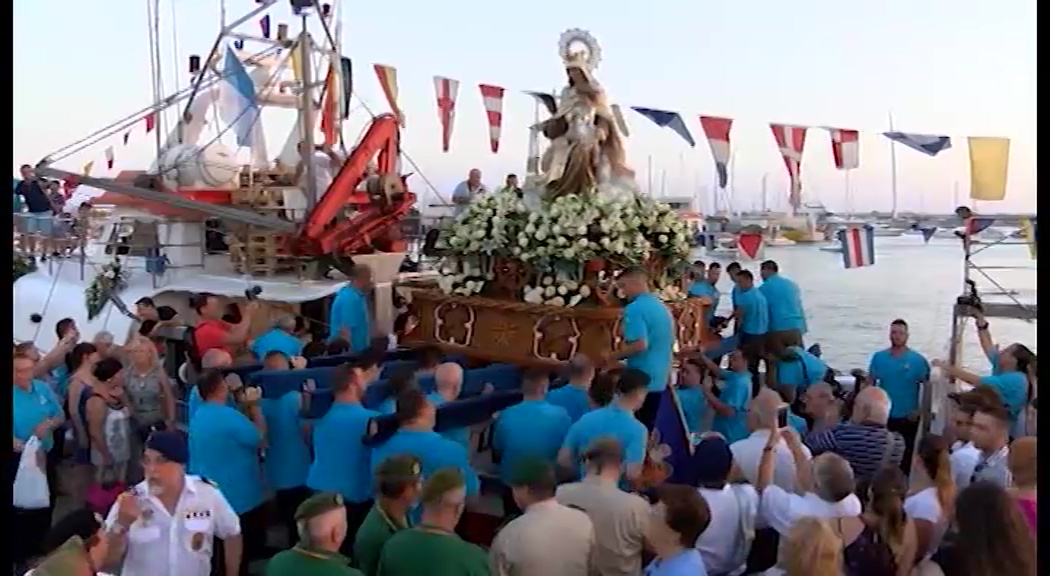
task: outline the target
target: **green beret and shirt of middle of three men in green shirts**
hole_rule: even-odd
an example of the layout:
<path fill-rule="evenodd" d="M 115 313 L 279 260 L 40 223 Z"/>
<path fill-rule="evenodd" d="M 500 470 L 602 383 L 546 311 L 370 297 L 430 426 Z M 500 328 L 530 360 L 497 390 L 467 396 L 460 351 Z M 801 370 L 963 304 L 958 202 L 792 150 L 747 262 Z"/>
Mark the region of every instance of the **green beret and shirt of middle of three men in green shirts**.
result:
<path fill-rule="evenodd" d="M 380 463 L 376 470 L 376 483 L 418 483 L 422 467 L 419 460 L 408 454 L 391 456 Z M 407 517 L 392 517 L 383 509 L 380 502 L 369 511 L 361 527 L 357 529 L 354 539 L 354 566 L 365 576 L 375 576 L 379 567 L 379 555 L 391 536 L 411 528 Z"/>

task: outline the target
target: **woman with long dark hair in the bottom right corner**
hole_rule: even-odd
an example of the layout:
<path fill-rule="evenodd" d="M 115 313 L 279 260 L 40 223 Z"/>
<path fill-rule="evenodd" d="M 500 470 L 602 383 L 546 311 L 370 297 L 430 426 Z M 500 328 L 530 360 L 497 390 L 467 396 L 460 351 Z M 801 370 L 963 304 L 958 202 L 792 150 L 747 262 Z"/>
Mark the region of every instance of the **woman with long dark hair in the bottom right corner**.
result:
<path fill-rule="evenodd" d="M 956 498 L 954 527 L 932 558 L 946 576 L 1035 576 L 1035 537 L 1003 487 L 966 487 Z"/>

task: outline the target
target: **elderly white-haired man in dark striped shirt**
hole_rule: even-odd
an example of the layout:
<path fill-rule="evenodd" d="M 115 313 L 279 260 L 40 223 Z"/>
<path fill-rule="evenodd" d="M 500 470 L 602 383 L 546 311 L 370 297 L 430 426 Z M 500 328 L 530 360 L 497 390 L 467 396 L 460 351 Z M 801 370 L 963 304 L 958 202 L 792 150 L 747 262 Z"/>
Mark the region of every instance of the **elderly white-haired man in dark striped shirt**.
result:
<path fill-rule="evenodd" d="M 836 453 L 853 467 L 857 483 L 864 485 L 887 466 L 904 458 L 904 436 L 886 428 L 889 397 L 882 388 L 866 387 L 857 393 L 849 422 L 806 436 L 814 454 Z"/>

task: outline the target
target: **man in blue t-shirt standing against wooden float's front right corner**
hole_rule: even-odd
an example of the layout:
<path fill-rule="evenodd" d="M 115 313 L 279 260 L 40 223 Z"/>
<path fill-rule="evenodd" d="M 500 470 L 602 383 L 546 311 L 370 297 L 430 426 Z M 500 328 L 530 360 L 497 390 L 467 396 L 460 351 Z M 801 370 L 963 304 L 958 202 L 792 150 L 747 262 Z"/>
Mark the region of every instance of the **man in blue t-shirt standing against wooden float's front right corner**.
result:
<path fill-rule="evenodd" d="M 627 296 L 624 306 L 624 344 L 608 356 L 626 360 L 649 377 L 649 396 L 638 410 L 638 421 L 652 429 L 660 394 L 671 379 L 674 357 L 674 317 L 655 295 L 649 292 L 649 274 L 640 268 L 624 272 L 617 283 Z"/>

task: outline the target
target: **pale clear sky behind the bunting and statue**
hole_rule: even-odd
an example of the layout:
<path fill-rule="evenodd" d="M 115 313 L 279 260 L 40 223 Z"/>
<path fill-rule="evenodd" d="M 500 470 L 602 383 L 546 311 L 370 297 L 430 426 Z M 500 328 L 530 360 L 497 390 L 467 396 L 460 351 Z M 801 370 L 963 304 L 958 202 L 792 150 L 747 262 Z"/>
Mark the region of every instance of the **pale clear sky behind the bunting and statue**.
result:
<path fill-rule="evenodd" d="M 228 0 L 227 9 L 232 19 L 253 5 Z M 173 88 L 177 79 L 185 86 L 187 57 L 206 54 L 218 30 L 217 2 L 162 0 L 161 12 L 166 84 Z M 274 28 L 292 21 L 284 2 L 272 14 Z M 150 102 L 145 1 L 15 0 L 14 19 L 15 168 Z M 898 149 L 902 210 L 947 211 L 957 185 L 965 198 L 965 136 L 996 135 L 1012 140 L 1007 199 L 981 208 L 1034 211 L 1035 0 L 413 0 L 348 3 L 342 21 L 357 95 L 384 111 L 372 64 L 397 67 L 404 149 L 445 196 L 472 167 L 492 186 L 524 170 L 533 102 L 521 90 L 563 84 L 559 35 L 581 27 L 602 45 L 597 77 L 613 102 L 679 111 L 697 140 L 690 148 L 626 111 L 629 159 L 656 194 L 710 198 L 714 170 L 697 120 L 704 113 L 735 120 L 736 206 L 761 202 L 763 176 L 769 206 L 786 204 L 788 176 L 768 127 L 783 122 L 861 130 L 853 208 L 887 210 L 889 148 L 878 132 L 891 113 L 897 130 L 956 138 L 936 158 Z M 243 29 L 257 34 L 258 24 Z M 461 81 L 447 154 L 440 149 L 435 74 Z M 499 154 L 488 150 L 479 82 L 508 90 Z M 361 111 L 346 126 L 351 142 L 366 120 Z M 282 141 L 276 131 L 270 140 Z M 140 127 L 129 147 L 116 136 L 62 167 L 79 171 L 94 161 L 94 173 L 104 173 L 107 145 L 116 148 L 118 169 L 144 168 L 153 146 Z M 802 172 L 807 200 L 847 208 L 825 131 L 810 131 Z"/>

